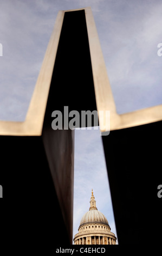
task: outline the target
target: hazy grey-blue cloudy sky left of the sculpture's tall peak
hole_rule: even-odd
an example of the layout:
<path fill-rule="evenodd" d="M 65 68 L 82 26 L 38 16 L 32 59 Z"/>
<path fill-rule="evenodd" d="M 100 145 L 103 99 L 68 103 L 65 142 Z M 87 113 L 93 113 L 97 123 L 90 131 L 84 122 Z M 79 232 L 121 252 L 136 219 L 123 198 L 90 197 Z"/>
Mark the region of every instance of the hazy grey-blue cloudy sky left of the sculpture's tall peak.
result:
<path fill-rule="evenodd" d="M 57 13 L 54 8 L 53 13 L 49 11 L 49 7 L 42 11 L 42 5 L 34 1 L 4 1 L 0 13 L 0 119 L 22 121 Z"/>

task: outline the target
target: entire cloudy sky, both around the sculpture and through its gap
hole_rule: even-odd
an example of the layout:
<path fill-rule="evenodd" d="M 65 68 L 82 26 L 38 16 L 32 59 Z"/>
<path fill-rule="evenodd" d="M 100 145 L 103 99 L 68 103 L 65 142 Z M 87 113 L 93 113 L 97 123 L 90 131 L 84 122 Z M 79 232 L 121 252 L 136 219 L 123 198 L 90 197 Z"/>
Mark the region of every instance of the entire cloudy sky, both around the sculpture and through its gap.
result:
<path fill-rule="evenodd" d="M 85 7 L 93 12 L 117 112 L 162 103 L 161 0 L 0 0 L 0 7 L 0 120 L 25 119 L 57 13 Z M 76 130 L 75 230 L 93 188 L 96 205 L 115 233 L 106 175 L 98 131 Z"/>

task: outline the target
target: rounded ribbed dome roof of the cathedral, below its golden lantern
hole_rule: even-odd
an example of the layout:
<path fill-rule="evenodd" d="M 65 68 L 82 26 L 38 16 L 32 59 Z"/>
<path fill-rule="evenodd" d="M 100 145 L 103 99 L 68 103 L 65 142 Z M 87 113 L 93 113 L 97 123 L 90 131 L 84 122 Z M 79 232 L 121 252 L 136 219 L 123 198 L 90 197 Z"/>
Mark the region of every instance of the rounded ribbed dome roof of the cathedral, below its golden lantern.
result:
<path fill-rule="evenodd" d="M 80 225 L 86 224 L 89 222 L 102 223 L 102 224 L 108 225 L 107 218 L 105 217 L 105 215 L 102 214 L 102 212 L 100 212 L 98 210 L 87 211 L 86 214 L 83 215 Z"/>

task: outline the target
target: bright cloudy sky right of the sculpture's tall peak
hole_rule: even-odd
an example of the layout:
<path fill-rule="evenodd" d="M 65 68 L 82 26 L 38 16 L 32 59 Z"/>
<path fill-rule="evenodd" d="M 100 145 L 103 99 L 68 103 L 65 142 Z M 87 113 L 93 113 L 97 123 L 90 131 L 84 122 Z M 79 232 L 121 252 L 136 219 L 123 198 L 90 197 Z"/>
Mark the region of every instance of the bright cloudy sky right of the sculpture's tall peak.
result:
<path fill-rule="evenodd" d="M 108 1 L 94 14 L 118 113 L 162 103 L 161 1 Z"/>

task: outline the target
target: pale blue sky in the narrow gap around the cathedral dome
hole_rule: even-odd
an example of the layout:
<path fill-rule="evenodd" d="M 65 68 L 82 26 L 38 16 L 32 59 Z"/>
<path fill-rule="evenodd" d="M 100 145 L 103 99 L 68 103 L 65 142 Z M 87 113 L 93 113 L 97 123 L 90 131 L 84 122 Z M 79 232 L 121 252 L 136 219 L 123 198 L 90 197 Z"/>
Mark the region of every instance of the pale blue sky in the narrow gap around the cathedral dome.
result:
<path fill-rule="evenodd" d="M 102 137 L 99 127 L 90 128 L 75 129 L 73 237 L 78 233 L 82 216 L 89 211 L 92 189 L 96 207 L 117 236 Z"/>

